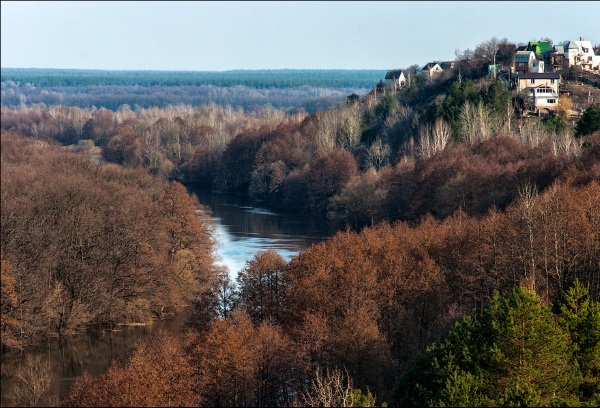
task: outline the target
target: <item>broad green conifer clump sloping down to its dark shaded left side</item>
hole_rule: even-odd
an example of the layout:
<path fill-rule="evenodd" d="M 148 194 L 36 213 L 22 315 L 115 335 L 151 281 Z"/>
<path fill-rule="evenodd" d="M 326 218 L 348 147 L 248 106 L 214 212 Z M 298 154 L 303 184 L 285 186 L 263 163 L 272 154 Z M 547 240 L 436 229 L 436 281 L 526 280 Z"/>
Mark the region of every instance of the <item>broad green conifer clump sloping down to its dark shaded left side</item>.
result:
<path fill-rule="evenodd" d="M 577 405 L 580 373 L 569 333 L 522 286 L 457 323 L 399 378 L 401 406 Z"/>

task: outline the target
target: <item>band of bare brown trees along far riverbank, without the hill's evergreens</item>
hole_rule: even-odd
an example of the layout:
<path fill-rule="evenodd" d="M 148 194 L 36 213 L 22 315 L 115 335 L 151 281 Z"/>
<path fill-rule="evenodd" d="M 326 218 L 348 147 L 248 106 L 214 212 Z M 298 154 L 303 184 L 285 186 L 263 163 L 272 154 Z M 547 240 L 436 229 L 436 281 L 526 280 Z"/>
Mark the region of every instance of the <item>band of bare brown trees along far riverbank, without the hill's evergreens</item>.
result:
<path fill-rule="evenodd" d="M 594 157 L 597 135 L 581 149 L 572 136 L 557 137 L 535 124 L 516 130 L 514 118 L 504 118 L 505 126 L 487 123 L 487 138 L 450 142 L 435 154 L 419 156 L 423 146 L 414 140 L 422 119 L 412 108 L 396 113 L 389 124 L 359 129 L 360 118 L 385 102 L 379 99 L 370 95 L 310 116 L 269 109 L 245 114 L 214 105 L 136 112 L 2 108 L 2 128 L 63 144 L 93 141 L 108 161 L 143 166 L 190 185 L 248 193 L 274 206 L 327 212 L 336 223 L 356 229 L 379 220 L 418 220 L 427 213 L 445 218 L 459 208 L 482 215 L 492 207 L 505 209 L 524 182 L 542 192 L 556 179 L 600 177 L 597 157 L 591 168 L 584 165 Z M 398 130 L 393 123 L 400 122 L 405 125 Z M 396 140 L 398 132 L 403 136 Z M 397 149 L 388 155 L 394 171 L 378 161 L 377 177 L 372 176 L 367 153 L 375 144 L 367 139 Z M 362 179 L 351 181 L 359 176 L 356 163 Z"/>

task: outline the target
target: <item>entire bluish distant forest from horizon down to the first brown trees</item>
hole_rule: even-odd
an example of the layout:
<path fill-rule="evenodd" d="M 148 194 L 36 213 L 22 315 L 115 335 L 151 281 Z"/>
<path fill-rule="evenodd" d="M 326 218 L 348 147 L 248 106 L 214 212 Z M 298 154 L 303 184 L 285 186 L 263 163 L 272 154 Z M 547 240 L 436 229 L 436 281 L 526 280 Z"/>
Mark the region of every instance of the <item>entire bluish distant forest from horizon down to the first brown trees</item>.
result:
<path fill-rule="evenodd" d="M 211 102 L 245 111 L 338 107 L 385 76 L 378 70 L 102 71 L 2 68 L 2 106 L 64 105 L 117 110 Z"/>

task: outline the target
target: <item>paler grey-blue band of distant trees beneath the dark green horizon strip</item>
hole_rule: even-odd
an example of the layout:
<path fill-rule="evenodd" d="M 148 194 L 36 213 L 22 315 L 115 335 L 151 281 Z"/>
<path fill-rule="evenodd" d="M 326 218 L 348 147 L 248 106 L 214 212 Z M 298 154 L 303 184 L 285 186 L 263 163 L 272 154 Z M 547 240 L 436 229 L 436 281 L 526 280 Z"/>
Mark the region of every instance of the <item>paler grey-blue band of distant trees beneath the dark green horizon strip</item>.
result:
<path fill-rule="evenodd" d="M 133 110 L 166 108 L 171 105 L 194 107 L 209 105 L 231 106 L 254 113 L 265 106 L 295 112 L 309 113 L 337 108 L 346 102 L 348 95 L 364 94 L 367 89 L 350 88 L 299 88 L 255 89 L 247 86 L 72 86 L 34 87 L 30 85 L 2 84 L 2 106 L 72 106 L 82 109 L 106 108 L 117 111 L 129 106 Z"/>

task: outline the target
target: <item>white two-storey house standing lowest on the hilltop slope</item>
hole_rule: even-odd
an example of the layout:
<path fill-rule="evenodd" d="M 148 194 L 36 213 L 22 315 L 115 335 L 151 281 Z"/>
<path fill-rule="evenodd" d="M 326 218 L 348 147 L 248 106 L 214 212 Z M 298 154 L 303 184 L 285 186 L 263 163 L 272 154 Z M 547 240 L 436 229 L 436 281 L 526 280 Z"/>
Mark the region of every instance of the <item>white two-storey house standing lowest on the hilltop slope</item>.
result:
<path fill-rule="evenodd" d="M 555 109 L 559 98 L 560 74 L 556 72 L 526 72 L 519 75 L 517 92 L 526 98 L 535 110 Z"/>

